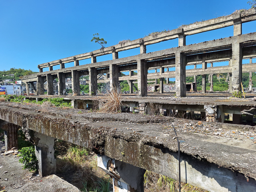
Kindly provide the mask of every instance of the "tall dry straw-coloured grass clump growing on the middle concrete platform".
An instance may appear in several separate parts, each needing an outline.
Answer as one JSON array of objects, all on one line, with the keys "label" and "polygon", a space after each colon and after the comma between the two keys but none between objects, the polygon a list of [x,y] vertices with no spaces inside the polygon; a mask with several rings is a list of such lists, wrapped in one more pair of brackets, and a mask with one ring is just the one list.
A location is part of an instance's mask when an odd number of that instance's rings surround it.
[{"label": "tall dry straw-coloured grass clump growing on the middle concrete platform", "polygon": [[99,112],[103,113],[117,113],[121,112],[122,99],[121,93],[118,88],[113,87],[106,96],[100,98],[102,100],[102,107]]}]

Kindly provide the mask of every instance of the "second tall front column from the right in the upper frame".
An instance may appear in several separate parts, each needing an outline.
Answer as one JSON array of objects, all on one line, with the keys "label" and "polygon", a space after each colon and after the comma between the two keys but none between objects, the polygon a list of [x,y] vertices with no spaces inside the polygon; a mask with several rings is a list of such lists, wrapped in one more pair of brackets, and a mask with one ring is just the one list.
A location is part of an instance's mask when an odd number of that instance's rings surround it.
[{"label": "second tall front column from the right in the upper frame", "polygon": [[176,96],[186,97],[186,56],[181,52],[175,55]]}]

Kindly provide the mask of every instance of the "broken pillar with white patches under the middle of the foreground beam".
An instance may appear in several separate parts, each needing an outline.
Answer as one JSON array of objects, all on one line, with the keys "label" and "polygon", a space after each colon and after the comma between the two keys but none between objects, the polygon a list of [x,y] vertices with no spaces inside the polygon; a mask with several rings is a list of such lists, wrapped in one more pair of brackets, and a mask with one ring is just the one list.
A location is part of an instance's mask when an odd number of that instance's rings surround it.
[{"label": "broken pillar with white patches under the middle of the foreground beam", "polygon": [[145,169],[98,155],[98,166],[113,179],[113,192],[144,192]]}]

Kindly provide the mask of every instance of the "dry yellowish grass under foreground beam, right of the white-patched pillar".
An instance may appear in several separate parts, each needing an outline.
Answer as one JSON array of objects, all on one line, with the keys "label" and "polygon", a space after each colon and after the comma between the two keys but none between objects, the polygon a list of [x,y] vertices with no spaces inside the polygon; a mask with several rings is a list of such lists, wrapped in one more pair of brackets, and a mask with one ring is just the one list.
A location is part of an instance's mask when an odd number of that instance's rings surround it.
[{"label": "dry yellowish grass under foreground beam, right of the white-patched pillar", "polygon": [[[146,171],[144,174],[144,191],[145,192],[178,192],[179,182],[170,177],[160,175],[154,172]],[[208,192],[199,187],[181,182],[182,192]]]}]

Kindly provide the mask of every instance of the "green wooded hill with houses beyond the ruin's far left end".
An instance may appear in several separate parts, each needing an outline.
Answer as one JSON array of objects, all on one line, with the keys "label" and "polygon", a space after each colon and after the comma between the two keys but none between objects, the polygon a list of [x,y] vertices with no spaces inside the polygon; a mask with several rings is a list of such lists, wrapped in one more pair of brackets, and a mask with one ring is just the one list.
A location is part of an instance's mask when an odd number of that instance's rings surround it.
[{"label": "green wooded hill with houses beyond the ruin's far left end", "polygon": [[[37,72],[33,72],[32,70],[11,68],[8,71],[6,71],[6,70],[0,71],[0,81],[3,81],[5,79],[14,79],[15,81],[17,81],[17,80],[19,80],[20,76],[31,75],[33,73],[37,73]],[[9,76],[11,74],[14,74],[14,77]]]}]

